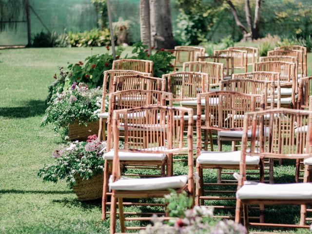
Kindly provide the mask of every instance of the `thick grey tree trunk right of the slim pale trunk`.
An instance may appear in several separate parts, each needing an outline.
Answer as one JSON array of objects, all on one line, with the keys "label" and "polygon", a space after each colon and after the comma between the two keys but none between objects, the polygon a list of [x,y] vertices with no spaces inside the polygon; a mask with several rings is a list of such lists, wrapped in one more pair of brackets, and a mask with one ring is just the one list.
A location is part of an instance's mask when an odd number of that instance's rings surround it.
[{"label": "thick grey tree trunk right of the slim pale trunk", "polygon": [[172,49],[175,40],[172,34],[170,1],[150,0],[152,45],[156,48]]}]

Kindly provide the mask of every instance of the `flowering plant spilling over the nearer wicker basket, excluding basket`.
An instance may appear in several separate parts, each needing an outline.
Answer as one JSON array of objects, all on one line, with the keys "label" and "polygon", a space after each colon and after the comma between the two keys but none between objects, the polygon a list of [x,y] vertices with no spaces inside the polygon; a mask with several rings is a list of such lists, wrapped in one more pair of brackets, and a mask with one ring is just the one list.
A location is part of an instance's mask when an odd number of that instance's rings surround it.
[{"label": "flowering plant spilling over the nearer wicker basket, excluding basket", "polygon": [[58,182],[66,180],[72,187],[76,183],[75,176],[90,179],[103,171],[104,160],[100,151],[106,147],[106,142],[98,141],[97,136],[88,137],[87,141],[68,143],[64,148],[57,149],[52,156],[55,163],[44,165],[38,172],[43,181]]}]

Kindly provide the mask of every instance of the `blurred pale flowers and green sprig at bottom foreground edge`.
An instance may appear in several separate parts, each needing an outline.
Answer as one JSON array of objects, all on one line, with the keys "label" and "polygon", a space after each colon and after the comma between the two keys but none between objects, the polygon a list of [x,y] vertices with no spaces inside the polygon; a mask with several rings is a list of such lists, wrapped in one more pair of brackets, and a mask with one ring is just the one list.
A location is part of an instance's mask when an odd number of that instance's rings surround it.
[{"label": "blurred pale flowers and green sprig at bottom foreground edge", "polygon": [[169,215],[178,218],[164,222],[161,217],[155,216],[153,225],[147,225],[146,230],[139,234],[247,234],[244,226],[233,220],[218,221],[213,218],[213,207],[195,206],[187,210],[192,200],[185,192],[177,195],[173,191],[165,199]]}]

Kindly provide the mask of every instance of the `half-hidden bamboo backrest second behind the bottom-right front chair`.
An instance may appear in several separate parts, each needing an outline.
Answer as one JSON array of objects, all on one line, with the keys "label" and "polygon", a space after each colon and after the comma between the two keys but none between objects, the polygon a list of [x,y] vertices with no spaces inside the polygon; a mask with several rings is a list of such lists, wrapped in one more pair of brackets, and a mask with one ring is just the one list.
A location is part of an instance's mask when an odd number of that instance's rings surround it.
[{"label": "half-hidden bamboo backrest second behind the bottom-right front chair", "polygon": [[[226,91],[235,91],[243,94],[263,94],[264,103],[268,103],[270,98],[270,105],[267,108],[274,108],[274,80],[255,80],[246,78],[229,79],[220,82],[220,87],[224,87]],[[278,98],[277,98],[278,99]],[[269,103],[268,103],[269,104]],[[256,103],[258,109],[260,109],[260,102]],[[278,107],[280,105],[277,104]]]}]

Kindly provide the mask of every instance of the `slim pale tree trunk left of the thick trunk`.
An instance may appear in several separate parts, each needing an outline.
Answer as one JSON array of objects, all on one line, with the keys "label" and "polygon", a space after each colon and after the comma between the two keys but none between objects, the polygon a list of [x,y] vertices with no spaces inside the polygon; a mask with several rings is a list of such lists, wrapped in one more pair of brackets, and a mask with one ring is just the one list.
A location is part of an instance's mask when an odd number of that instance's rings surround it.
[{"label": "slim pale tree trunk left of the thick trunk", "polygon": [[140,0],[140,32],[141,41],[148,46],[148,53],[151,54],[151,22],[150,22],[150,2]]}]

